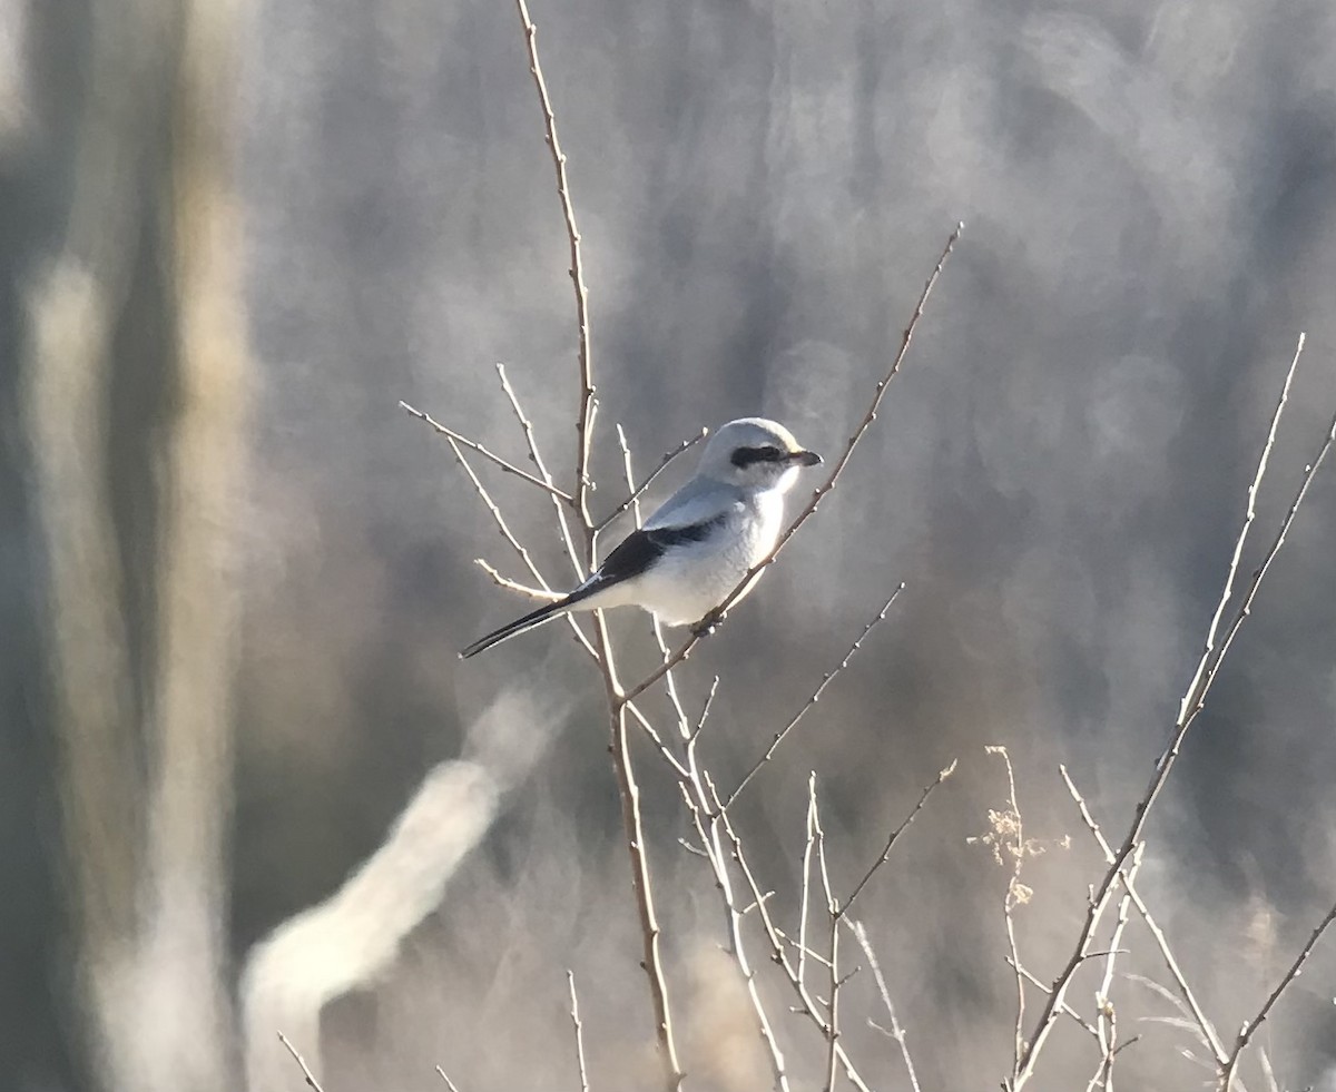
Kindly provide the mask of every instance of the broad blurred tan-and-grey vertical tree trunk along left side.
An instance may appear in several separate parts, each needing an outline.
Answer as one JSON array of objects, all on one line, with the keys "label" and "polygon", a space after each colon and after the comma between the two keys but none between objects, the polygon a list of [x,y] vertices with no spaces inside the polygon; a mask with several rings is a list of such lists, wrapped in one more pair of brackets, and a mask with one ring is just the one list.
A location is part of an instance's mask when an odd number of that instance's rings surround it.
[{"label": "broad blurred tan-and-grey vertical tree trunk along left side", "polygon": [[[5,262],[77,1087],[234,1087],[238,0],[37,0]],[[55,924],[52,925],[55,928]],[[55,973],[48,972],[48,973]]]}]

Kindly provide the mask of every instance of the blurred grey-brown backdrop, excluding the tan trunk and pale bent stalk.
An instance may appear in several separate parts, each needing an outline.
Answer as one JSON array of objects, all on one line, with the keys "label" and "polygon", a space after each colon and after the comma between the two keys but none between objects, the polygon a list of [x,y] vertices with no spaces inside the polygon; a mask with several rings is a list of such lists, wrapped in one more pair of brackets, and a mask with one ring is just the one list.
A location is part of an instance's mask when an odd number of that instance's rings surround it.
[{"label": "blurred grey-brown backdrop, excluding the tan trunk and pale bent stalk", "polygon": [[[81,16],[5,9],[15,101],[40,120],[81,85]],[[596,510],[620,497],[613,422],[643,469],[752,413],[838,451],[967,224],[840,487],[684,685],[696,704],[724,677],[709,761],[729,782],[907,582],[741,822],[791,912],[808,770],[852,878],[961,760],[863,913],[925,1087],[997,1087],[1014,1023],[1006,881],[965,841],[1005,801],[983,746],[1010,749],[1026,833],[1073,836],[1026,866],[1035,897],[1018,912],[1022,953],[1051,979],[1102,872],[1057,765],[1121,834],[1196,666],[1300,330],[1242,577],[1336,406],[1336,8],[572,0],[533,17],[591,286]],[[326,1013],[326,1073],[334,1088],[426,1088],[441,1063],[464,1088],[550,1088],[552,1069],[570,1087],[553,1063],[569,1052],[565,967],[595,1072],[619,1072],[645,1049],[649,1009],[597,677],[558,627],[457,662],[521,609],[472,558],[520,571],[440,438],[395,407],[521,459],[492,371],[505,362],[570,481],[566,240],[518,19],[505,4],[270,0],[236,33],[253,366],[227,530],[242,603],[228,950],[239,963],[329,894],[498,693],[540,693],[542,761],[394,972]],[[24,56],[51,63],[24,79]],[[31,147],[7,160],[24,214],[11,238],[60,219],[32,196],[51,190]],[[19,495],[23,445],[4,458]],[[542,498],[505,479],[496,495],[565,579]],[[1336,896],[1333,521],[1327,474],[1149,830],[1142,886],[1226,1036]],[[7,626],[23,634],[43,610],[27,598],[41,549],[17,522],[7,538],[23,606]],[[640,619],[615,625],[644,641]],[[49,752],[23,688],[7,693],[5,869],[29,894],[7,937],[25,952],[13,981],[47,1000],[8,987],[0,1023],[31,1023],[12,1043],[19,1087],[86,1087],[57,872],[24,833],[52,821]],[[675,845],[671,784],[648,757],[644,770],[689,997],[721,920]],[[1268,1031],[1281,1087],[1333,1087],[1332,968],[1320,953]],[[1162,977],[1149,956],[1140,969]],[[1172,1009],[1120,988],[1128,1033],[1144,1035],[1124,1060],[1138,1087],[1205,1076],[1178,1056],[1188,1032],[1134,1023]],[[856,1035],[878,1087],[902,1087],[888,1044]],[[1082,1049],[1058,1051],[1037,1087],[1085,1080]],[[799,1073],[822,1060],[796,1055]]]}]

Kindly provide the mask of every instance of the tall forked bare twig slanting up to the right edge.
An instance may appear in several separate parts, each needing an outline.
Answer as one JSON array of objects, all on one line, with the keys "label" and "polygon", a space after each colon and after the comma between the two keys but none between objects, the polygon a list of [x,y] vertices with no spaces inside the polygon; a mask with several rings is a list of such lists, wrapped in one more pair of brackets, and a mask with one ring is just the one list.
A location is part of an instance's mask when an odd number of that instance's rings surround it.
[{"label": "tall forked bare twig slanting up to the right edge", "polygon": [[[1281,411],[1284,410],[1285,399],[1288,396],[1289,376],[1293,374],[1295,366],[1299,359],[1299,352],[1303,350],[1303,344],[1304,339],[1303,336],[1300,336],[1299,350],[1296,350],[1295,352],[1295,360],[1289,366],[1289,371],[1287,372],[1285,376],[1285,383],[1281,388],[1280,400],[1276,406],[1275,414],[1272,415],[1272,427],[1271,431],[1268,433],[1267,443],[1263,446],[1261,458],[1259,459],[1257,465],[1257,473],[1253,478],[1252,486],[1248,490],[1249,498],[1255,497],[1257,490],[1261,487],[1261,481],[1267,470],[1267,459],[1271,454],[1272,437],[1275,435],[1280,425],[1280,415]],[[1054,981],[1053,993],[1049,996],[1049,1000],[1045,1004],[1043,1011],[1041,1012],[1038,1023],[1035,1025],[1035,1031],[1030,1041],[1030,1052],[1029,1056],[1026,1057],[1026,1064],[1017,1075],[1011,1087],[1011,1092],[1019,1092],[1019,1089],[1025,1085],[1025,1083],[1034,1075],[1034,1067],[1038,1060],[1039,1051],[1043,1047],[1043,1043],[1046,1041],[1049,1032],[1053,1028],[1054,1020],[1057,1019],[1058,1003],[1062,1000],[1067,987],[1071,983],[1071,977],[1075,975],[1077,968],[1081,965],[1081,963],[1086,957],[1086,953],[1089,952],[1090,941],[1094,936],[1096,926],[1100,922],[1100,917],[1104,914],[1104,910],[1108,906],[1109,900],[1113,897],[1113,892],[1120,882],[1120,877],[1124,866],[1128,862],[1128,858],[1132,856],[1137,844],[1141,841],[1141,834],[1145,830],[1146,821],[1150,816],[1150,809],[1154,806],[1154,802],[1158,798],[1161,789],[1164,789],[1165,781],[1169,778],[1169,773],[1173,769],[1174,762],[1178,757],[1178,752],[1182,746],[1182,740],[1188,734],[1188,729],[1196,721],[1197,714],[1205,708],[1206,696],[1209,694],[1210,688],[1216,681],[1220,667],[1224,663],[1225,655],[1232,647],[1234,637],[1237,637],[1240,629],[1242,627],[1244,621],[1248,618],[1252,610],[1253,599],[1257,595],[1257,590],[1261,587],[1263,579],[1265,578],[1272,563],[1279,555],[1280,549],[1285,542],[1285,535],[1288,534],[1289,527],[1295,521],[1295,515],[1299,513],[1299,507],[1303,505],[1304,497],[1308,494],[1308,487],[1313,481],[1313,475],[1316,475],[1319,467],[1323,465],[1323,461],[1327,458],[1327,453],[1331,450],[1333,442],[1336,442],[1336,418],[1332,419],[1331,430],[1328,431],[1325,441],[1319,449],[1316,458],[1304,470],[1303,482],[1299,487],[1299,491],[1295,495],[1293,502],[1289,506],[1289,511],[1281,521],[1280,530],[1276,534],[1276,538],[1272,542],[1271,549],[1267,551],[1267,557],[1263,559],[1263,563],[1253,573],[1252,581],[1248,586],[1248,591],[1245,593],[1242,602],[1240,602],[1238,609],[1234,613],[1233,621],[1230,622],[1229,630],[1226,631],[1225,639],[1221,643],[1218,653],[1216,654],[1214,659],[1210,661],[1209,667],[1202,669],[1201,666],[1198,666],[1197,671],[1192,678],[1192,682],[1188,685],[1188,689],[1184,693],[1184,698],[1180,705],[1178,720],[1174,725],[1173,740],[1169,744],[1169,749],[1161,757],[1161,761],[1156,765],[1156,772],[1152,776],[1150,785],[1146,789],[1145,796],[1141,798],[1141,802],[1137,805],[1136,817],[1132,821],[1132,826],[1128,830],[1128,834],[1124,838],[1122,845],[1120,846],[1117,853],[1114,853],[1114,860],[1109,865],[1109,870],[1105,873],[1104,880],[1101,881],[1098,889],[1092,893],[1090,906],[1086,912],[1086,921],[1085,925],[1082,926],[1081,936],[1077,940],[1077,946],[1073,950],[1071,957],[1067,960],[1066,967],[1062,969],[1062,972]],[[1238,535],[1240,542],[1236,542],[1234,545],[1234,558],[1237,558],[1238,553],[1242,549],[1241,539],[1246,535],[1250,522],[1252,522],[1252,501],[1249,499],[1248,514],[1245,515],[1244,526]],[[1228,601],[1228,598],[1232,594],[1233,574],[1236,567],[1237,567],[1237,561],[1232,562],[1229,574],[1226,575],[1225,593],[1222,595],[1222,601]],[[1212,643],[1213,638],[1210,635],[1214,633],[1214,630],[1216,630],[1216,622],[1213,619],[1212,626],[1208,630],[1208,643]]]}]

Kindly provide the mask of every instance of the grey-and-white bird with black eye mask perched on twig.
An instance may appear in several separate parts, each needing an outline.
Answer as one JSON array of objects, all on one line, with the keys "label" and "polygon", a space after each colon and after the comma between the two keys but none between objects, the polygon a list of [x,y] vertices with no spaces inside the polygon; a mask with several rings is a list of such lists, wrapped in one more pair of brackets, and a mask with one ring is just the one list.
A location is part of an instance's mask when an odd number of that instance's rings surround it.
[{"label": "grey-and-white bird with black eye mask perched on twig", "polygon": [[[778,422],[762,417],[729,421],[705,443],[696,474],[627,535],[593,575],[562,598],[478,638],[460,658],[573,610],[639,606],[665,625],[703,623],[775,549],[784,523],[784,494],[803,467],[820,461]],[[741,594],[752,586],[755,581]]]}]

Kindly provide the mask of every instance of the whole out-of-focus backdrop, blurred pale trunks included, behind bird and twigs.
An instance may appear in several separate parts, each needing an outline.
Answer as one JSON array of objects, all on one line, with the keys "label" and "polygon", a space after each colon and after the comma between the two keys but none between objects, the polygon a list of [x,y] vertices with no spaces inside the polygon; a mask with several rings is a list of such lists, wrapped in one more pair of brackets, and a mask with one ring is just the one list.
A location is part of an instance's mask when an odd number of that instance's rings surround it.
[{"label": "whole out-of-focus backdrop, blurred pale trunks included, behind bird and twigs", "polygon": [[[533,19],[591,288],[596,514],[624,493],[615,422],[641,471],[754,413],[836,453],[967,223],[840,487],[680,685],[699,709],[723,677],[701,746],[731,785],[907,582],[737,822],[792,921],[808,772],[848,889],[959,760],[859,912],[923,1087],[997,1088],[985,746],[1046,848],[1017,925],[1050,981],[1102,876],[1057,766],[1121,838],[1301,330],[1244,578],[1336,408],[1336,8]],[[560,626],[457,661],[524,609],[473,558],[524,571],[397,408],[522,462],[504,362],[572,482],[568,244],[516,11],[0,0],[0,1084],[297,1088],[282,1029],[331,1091],[441,1087],[437,1064],[466,1092],[578,1087],[572,968],[595,1087],[652,1087],[601,685]],[[546,499],[478,473],[568,582]],[[1148,829],[1142,892],[1226,1040],[1336,897],[1333,523],[1327,473]],[[644,618],[613,626],[648,665]],[[708,870],[640,752],[692,1085],[766,1087]],[[1166,981],[1134,925],[1125,946]],[[1259,1035],[1279,1088],[1336,1088],[1332,948]],[[850,1051],[906,1088],[866,979]],[[816,1080],[824,1048],[767,989]],[[1142,1036],[1125,1080],[1210,1080],[1169,1001],[1120,979],[1116,1004]],[[1082,1087],[1092,1040],[1049,1049],[1031,1087]]]}]

